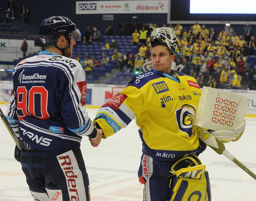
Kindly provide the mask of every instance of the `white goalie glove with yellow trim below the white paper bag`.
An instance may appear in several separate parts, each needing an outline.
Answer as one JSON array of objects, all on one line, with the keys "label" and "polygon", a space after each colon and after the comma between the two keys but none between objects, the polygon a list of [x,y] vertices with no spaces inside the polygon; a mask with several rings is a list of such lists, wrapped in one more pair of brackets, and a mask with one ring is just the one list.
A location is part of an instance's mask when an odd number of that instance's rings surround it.
[{"label": "white goalie glove with yellow trim below the white paper bag", "polygon": [[235,129],[220,129],[220,130],[208,130],[210,134],[214,135],[222,143],[236,142],[241,138],[244,133],[246,121],[241,126]]}]

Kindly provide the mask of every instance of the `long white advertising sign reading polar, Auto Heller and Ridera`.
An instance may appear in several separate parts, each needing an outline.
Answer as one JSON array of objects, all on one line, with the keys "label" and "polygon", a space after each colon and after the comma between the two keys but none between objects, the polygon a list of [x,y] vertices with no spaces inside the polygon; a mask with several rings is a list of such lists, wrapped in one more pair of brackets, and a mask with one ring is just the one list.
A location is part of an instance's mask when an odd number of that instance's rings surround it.
[{"label": "long white advertising sign reading polar, Auto Heller and Ridera", "polygon": [[168,0],[77,1],[76,14],[167,13]]}]

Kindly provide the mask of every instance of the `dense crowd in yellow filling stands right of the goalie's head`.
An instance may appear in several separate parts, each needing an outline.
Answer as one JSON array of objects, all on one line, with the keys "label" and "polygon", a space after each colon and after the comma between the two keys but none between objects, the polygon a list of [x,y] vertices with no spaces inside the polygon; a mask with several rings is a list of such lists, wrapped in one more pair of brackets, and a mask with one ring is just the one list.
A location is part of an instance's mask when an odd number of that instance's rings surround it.
[{"label": "dense crowd in yellow filling stands right of the goalie's head", "polygon": [[201,87],[241,89],[242,85],[244,89],[256,89],[256,66],[246,66],[245,58],[256,50],[249,23],[244,35],[239,36],[231,25],[218,34],[197,22],[189,31],[183,31],[177,23],[174,32],[182,50],[176,57],[177,65],[181,64],[178,70],[195,77]]}]

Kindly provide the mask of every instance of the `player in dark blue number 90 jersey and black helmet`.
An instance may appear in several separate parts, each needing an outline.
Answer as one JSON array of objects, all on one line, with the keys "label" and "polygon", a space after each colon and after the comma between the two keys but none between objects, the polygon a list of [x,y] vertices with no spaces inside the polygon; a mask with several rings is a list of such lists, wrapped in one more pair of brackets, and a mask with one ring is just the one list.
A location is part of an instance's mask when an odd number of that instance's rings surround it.
[{"label": "player in dark blue number 90 jersey and black helmet", "polygon": [[40,25],[39,38],[46,50],[14,69],[6,118],[19,138],[20,162],[33,199],[89,201],[80,143],[87,135],[97,146],[102,131],[85,108],[84,70],[71,59],[81,35],[70,19],[49,17]]}]

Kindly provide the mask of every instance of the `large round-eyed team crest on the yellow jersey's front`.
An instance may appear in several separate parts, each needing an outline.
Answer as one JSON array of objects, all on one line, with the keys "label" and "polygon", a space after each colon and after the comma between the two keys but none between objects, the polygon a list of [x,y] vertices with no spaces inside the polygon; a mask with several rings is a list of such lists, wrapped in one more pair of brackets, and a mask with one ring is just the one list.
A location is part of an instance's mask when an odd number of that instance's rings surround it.
[{"label": "large round-eyed team crest on the yellow jersey's front", "polygon": [[196,108],[189,104],[184,104],[175,110],[175,120],[180,132],[186,133],[189,137],[195,135],[193,131]]}]

